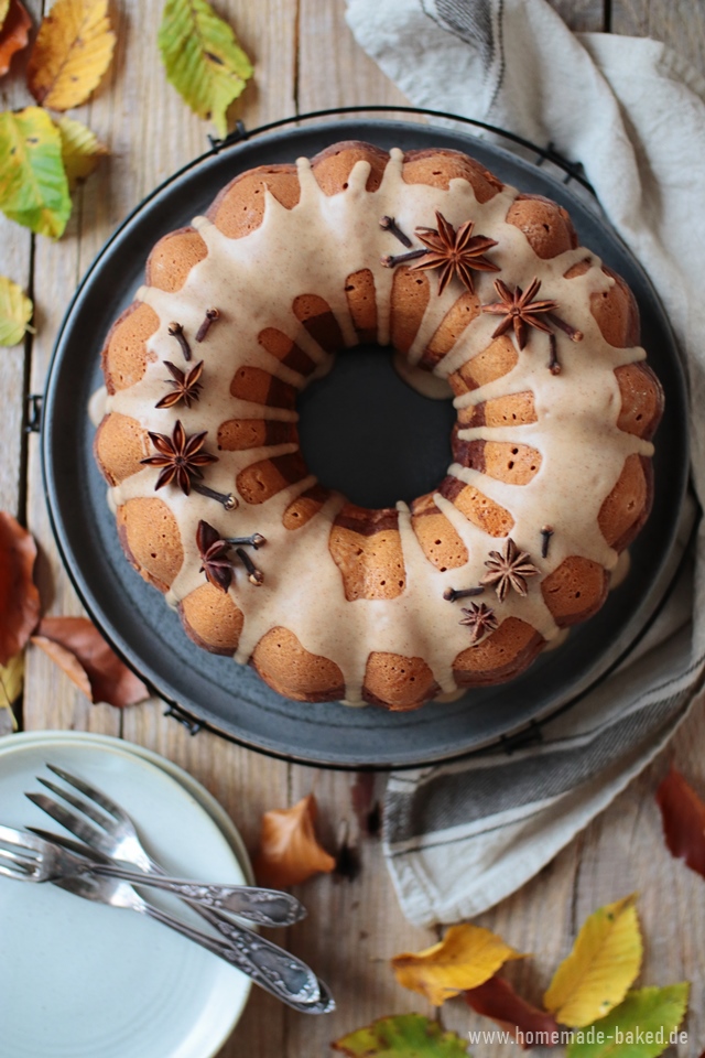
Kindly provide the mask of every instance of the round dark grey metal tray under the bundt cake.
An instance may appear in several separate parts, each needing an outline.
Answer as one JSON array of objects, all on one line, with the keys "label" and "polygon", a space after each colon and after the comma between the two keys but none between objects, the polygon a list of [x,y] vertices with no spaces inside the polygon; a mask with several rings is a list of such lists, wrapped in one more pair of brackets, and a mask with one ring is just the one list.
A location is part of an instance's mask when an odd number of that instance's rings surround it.
[{"label": "round dark grey metal tray under the bundt cake", "polygon": [[[341,139],[386,149],[455,148],[507,183],[565,205],[581,241],[634,291],[642,341],[666,393],[657,435],[653,512],[631,548],[629,576],[599,615],[573,629],[561,647],[542,655],[512,682],[471,690],[451,704],[431,703],[411,713],[292,702],[265,687],[250,668],[194,646],[176,614],[126,561],[91,455],[94,428],[87,406],[102,381],[102,342],[142,282],[154,242],[205,212],[239,172],[312,156]],[[359,373],[349,374],[346,389],[351,400],[369,392],[364,364]],[[403,417],[405,407],[401,401],[397,409],[390,401],[390,414]],[[317,427],[315,414],[310,418],[306,446],[313,451]],[[663,309],[640,267],[595,208],[543,168],[467,131],[364,118],[289,128],[226,147],[187,166],[142,203],[98,255],[66,314],[46,385],[42,453],[54,531],[78,594],[116,649],[178,717],[193,722],[194,728],[208,726],[247,746],[305,763],[411,767],[462,756],[532,725],[535,730],[538,721],[575,702],[603,679],[639,637],[662,602],[683,550],[676,536],[687,487],[686,423],[684,374]],[[403,425],[395,421],[393,429]],[[595,444],[599,441],[596,436]],[[416,483],[412,467],[408,487],[417,484],[416,494],[432,487],[427,471],[420,466]],[[340,472],[344,476],[344,466]]]}]

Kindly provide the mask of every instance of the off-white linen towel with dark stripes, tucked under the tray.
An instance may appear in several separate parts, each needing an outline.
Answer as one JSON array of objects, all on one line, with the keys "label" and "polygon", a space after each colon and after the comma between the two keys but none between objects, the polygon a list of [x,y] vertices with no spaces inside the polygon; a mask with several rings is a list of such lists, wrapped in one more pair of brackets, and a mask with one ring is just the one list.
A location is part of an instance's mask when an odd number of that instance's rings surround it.
[{"label": "off-white linen towel with dark stripes, tucked under the tray", "polygon": [[[583,165],[687,360],[702,505],[705,82],[655,41],[571,33],[545,0],[347,0],[347,18],[415,106],[487,121]],[[663,747],[701,683],[704,573],[701,526],[646,637],[543,725],[540,743],[390,776],[384,853],[411,921],[468,918],[514,892]]]}]

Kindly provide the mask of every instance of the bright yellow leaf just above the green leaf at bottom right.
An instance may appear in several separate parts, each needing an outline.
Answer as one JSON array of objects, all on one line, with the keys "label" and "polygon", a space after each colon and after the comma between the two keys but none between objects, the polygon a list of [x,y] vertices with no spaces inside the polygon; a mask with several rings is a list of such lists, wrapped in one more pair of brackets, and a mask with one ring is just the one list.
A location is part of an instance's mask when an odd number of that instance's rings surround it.
[{"label": "bright yellow leaf just above the green leaf at bottom right", "polygon": [[557,1022],[583,1028],[621,1003],[641,967],[634,895],[598,908],[556,970],[544,1006]]}]

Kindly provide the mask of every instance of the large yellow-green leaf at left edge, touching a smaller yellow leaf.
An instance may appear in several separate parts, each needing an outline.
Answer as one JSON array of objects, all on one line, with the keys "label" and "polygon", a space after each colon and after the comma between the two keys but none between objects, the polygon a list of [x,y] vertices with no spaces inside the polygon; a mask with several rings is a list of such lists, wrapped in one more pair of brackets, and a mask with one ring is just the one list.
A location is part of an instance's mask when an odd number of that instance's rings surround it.
[{"label": "large yellow-green leaf at left edge, touching a smaller yellow leaf", "polygon": [[61,136],[41,107],[0,114],[0,209],[54,239],[70,216]]}]

